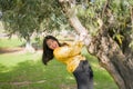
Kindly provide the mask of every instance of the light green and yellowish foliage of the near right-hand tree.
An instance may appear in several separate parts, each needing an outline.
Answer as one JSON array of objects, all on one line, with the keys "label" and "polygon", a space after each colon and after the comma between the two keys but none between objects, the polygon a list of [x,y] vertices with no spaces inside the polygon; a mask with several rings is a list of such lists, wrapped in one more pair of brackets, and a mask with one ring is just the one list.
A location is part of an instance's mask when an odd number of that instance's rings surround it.
[{"label": "light green and yellowish foliage of the near right-hand tree", "polygon": [[94,0],[88,2],[85,8],[84,4],[78,4],[76,10],[91,34],[99,32],[98,20],[101,19],[109,34],[122,46],[127,36],[133,39],[132,8],[132,0]]}]

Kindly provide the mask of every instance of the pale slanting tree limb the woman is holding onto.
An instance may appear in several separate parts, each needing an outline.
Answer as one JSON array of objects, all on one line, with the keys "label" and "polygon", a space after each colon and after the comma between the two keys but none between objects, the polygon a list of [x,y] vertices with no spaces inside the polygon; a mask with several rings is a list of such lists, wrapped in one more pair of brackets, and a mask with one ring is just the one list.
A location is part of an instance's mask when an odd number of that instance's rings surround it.
[{"label": "pale slanting tree limb the woman is holding onto", "polygon": [[62,10],[66,14],[71,26],[80,34],[79,40],[82,40],[88,46],[91,42],[91,36],[88,34],[88,30],[76,17],[75,0],[59,0],[59,2],[61,3],[61,7],[63,8]]}]

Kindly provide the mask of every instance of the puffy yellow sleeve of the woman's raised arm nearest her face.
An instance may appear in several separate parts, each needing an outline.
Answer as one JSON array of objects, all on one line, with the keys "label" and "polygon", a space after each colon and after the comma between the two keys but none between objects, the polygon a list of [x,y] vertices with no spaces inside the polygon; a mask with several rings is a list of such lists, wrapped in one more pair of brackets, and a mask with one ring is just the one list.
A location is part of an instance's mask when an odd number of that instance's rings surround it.
[{"label": "puffy yellow sleeve of the woman's raised arm nearest her face", "polygon": [[64,46],[57,48],[53,53],[57,59],[63,59],[76,56],[81,52],[83,43],[81,41],[76,41],[71,46]]}]

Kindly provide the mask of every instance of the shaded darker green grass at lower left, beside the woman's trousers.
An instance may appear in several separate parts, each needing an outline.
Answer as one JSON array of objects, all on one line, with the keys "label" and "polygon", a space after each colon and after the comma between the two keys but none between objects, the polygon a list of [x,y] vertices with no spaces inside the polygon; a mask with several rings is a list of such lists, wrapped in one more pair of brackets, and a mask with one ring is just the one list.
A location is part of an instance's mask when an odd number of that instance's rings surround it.
[{"label": "shaded darker green grass at lower left, beside the woman's trousers", "polygon": [[47,67],[29,60],[10,68],[0,65],[0,89],[75,89],[75,81],[54,60]]}]

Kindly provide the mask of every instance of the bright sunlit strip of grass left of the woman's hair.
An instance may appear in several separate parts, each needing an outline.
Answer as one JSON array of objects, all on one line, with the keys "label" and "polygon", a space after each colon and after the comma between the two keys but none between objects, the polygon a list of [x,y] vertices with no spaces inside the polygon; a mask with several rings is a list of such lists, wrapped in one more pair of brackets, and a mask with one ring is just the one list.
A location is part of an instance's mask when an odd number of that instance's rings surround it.
[{"label": "bright sunlit strip of grass left of the woman's hair", "polygon": [[38,56],[38,53],[2,53],[0,55],[0,63],[6,67],[17,66],[19,62],[24,62],[27,60],[35,61]]}]

